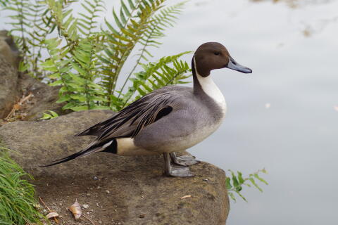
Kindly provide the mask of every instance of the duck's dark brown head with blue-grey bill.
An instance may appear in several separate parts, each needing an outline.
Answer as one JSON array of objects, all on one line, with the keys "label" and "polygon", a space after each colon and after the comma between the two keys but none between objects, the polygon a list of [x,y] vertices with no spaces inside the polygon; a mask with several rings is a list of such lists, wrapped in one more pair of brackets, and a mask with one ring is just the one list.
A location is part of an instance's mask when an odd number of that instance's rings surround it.
[{"label": "duck's dark brown head with blue-grey bill", "polygon": [[202,77],[208,77],[211,70],[229,68],[239,72],[251,73],[252,70],[237,63],[225,46],[218,42],[207,42],[199,46],[194,53],[193,62]]}]

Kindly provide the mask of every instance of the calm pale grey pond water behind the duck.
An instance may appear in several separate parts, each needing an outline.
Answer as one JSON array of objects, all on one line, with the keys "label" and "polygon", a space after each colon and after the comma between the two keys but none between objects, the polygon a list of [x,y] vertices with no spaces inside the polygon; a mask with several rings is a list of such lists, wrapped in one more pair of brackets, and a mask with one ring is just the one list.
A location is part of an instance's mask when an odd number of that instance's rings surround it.
[{"label": "calm pale grey pond water behind the duck", "polygon": [[227,118],[189,150],[224,170],[268,170],[269,186],[245,188],[249,203],[232,203],[227,224],[337,224],[337,8],[328,0],[194,0],[154,52],[219,41],[253,70],[213,72]]}]

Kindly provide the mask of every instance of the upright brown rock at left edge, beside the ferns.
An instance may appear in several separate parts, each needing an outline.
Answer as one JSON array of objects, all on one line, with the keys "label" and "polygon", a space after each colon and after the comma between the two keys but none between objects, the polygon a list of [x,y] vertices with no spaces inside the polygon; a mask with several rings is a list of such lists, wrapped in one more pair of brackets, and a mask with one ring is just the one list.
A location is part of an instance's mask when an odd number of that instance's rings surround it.
[{"label": "upright brown rock at left edge, beside the ferns", "polygon": [[[10,45],[11,44],[11,45]],[[0,31],[0,119],[11,112],[18,96],[18,49],[13,39]]]}]

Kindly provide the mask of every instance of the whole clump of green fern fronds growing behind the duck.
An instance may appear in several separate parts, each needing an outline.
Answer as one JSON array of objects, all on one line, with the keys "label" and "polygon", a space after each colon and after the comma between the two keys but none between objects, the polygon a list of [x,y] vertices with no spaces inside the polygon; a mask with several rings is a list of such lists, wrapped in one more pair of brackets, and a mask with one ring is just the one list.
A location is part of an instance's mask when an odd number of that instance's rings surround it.
[{"label": "whole clump of green fern fronds growing behind the duck", "polygon": [[[155,73],[142,77],[142,71],[134,73],[142,65],[142,60],[148,61],[151,56],[149,49],[160,46],[157,39],[173,25],[183,3],[164,7],[165,0],[121,0],[119,10],[113,8],[113,23],[105,20],[106,28],[100,30],[97,18],[105,10],[104,1],[80,2],[84,11],[78,15],[70,8],[74,2],[13,0],[7,6],[16,13],[12,17],[11,32],[17,34],[15,40],[24,57],[20,71],[27,71],[52,86],[60,85],[58,102],[66,102],[64,109],[118,110],[130,103],[132,97],[139,98],[151,89],[176,84],[186,78],[184,72],[189,67],[178,60],[180,56],[175,60],[166,58],[166,63],[164,59],[158,61],[165,63],[158,67],[158,71],[161,68],[161,74],[169,78],[158,77]],[[137,53],[139,59],[123,77],[123,88],[117,91],[120,71],[137,44],[141,46]],[[44,50],[50,57],[42,60]],[[149,68],[158,66],[158,63],[142,65],[143,72],[149,72]],[[128,80],[138,88],[133,90],[130,87],[124,93]]]}]

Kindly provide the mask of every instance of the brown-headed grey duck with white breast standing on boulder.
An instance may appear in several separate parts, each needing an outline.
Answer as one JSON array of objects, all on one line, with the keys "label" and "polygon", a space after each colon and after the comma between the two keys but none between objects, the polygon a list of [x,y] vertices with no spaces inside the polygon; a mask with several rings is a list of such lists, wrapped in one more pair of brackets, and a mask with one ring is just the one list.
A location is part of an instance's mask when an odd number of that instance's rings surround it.
[{"label": "brown-headed grey duck with white breast standing on boulder", "polygon": [[177,156],[204,141],[222,124],[227,104],[211,79],[211,70],[252,70],[237,63],[218,42],[207,42],[192,57],[193,86],[164,86],[134,101],[107,120],[75,136],[96,136],[89,145],[52,164],[106,152],[116,155],[163,155],[164,174],[194,176],[189,166],[199,163],[192,155]]}]

